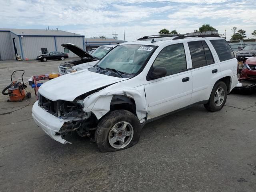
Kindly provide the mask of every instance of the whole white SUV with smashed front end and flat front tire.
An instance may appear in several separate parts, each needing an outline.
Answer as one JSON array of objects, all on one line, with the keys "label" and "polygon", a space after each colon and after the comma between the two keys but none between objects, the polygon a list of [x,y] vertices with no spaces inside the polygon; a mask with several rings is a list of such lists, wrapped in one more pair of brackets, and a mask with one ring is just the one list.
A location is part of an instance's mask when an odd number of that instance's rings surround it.
[{"label": "whole white SUV with smashed front end and flat front tire", "polygon": [[100,151],[136,144],[146,122],[192,104],[222,109],[238,82],[237,60],[216,35],[145,36],[118,45],[97,65],[44,83],[32,116],[63,144],[92,136]]}]

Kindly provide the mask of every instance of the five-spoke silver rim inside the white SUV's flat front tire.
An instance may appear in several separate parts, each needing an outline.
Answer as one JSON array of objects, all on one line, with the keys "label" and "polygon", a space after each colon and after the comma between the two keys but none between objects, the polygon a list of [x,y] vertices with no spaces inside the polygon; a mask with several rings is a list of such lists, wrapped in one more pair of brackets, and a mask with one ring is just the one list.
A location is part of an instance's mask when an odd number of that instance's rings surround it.
[{"label": "five-spoke silver rim inside the white SUV's flat front tire", "polygon": [[110,129],[108,142],[113,148],[121,149],[131,142],[133,134],[133,127],[130,123],[118,122]]}]

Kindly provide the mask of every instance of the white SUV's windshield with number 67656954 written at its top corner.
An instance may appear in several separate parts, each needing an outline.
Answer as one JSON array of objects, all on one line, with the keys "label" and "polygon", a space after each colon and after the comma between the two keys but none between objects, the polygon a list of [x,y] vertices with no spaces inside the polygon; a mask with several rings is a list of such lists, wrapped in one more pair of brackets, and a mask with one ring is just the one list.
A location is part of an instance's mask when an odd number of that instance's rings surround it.
[{"label": "white SUV's windshield with number 67656954 written at its top corner", "polygon": [[152,54],[156,46],[120,45],[114,48],[98,66],[103,69],[114,69],[125,74],[136,74]]}]

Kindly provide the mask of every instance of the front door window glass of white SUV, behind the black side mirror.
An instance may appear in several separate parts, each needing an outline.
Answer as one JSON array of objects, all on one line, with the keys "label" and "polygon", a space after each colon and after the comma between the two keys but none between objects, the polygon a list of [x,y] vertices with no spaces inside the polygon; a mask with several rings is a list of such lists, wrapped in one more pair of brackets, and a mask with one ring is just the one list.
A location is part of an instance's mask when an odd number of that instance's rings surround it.
[{"label": "front door window glass of white SUV, behind the black side mirror", "polygon": [[187,69],[183,44],[174,44],[163,48],[156,57],[153,67],[165,67],[167,70],[166,76]]}]

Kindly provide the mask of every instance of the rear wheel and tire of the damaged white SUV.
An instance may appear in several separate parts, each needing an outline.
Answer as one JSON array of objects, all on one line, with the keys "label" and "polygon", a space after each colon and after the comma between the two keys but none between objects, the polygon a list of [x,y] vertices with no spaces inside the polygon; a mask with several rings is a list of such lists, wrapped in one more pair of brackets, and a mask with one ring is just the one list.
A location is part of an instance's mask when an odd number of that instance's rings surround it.
[{"label": "rear wheel and tire of the damaged white SUV", "polygon": [[226,103],[227,93],[226,84],[223,81],[218,81],[214,85],[208,103],[204,104],[204,107],[212,112],[221,110]]}]

